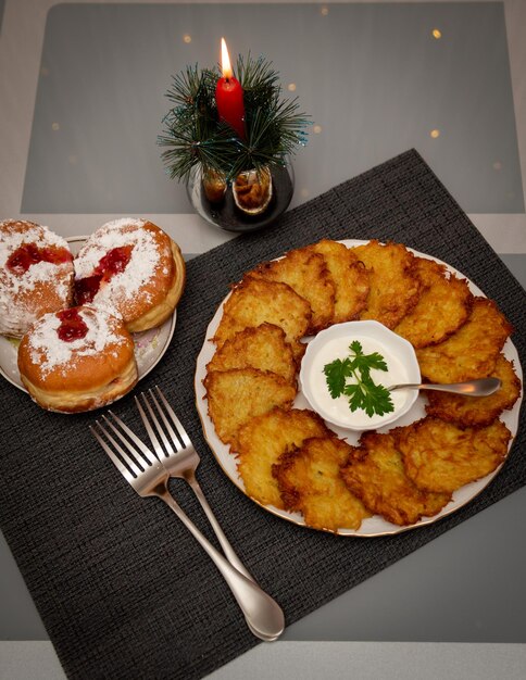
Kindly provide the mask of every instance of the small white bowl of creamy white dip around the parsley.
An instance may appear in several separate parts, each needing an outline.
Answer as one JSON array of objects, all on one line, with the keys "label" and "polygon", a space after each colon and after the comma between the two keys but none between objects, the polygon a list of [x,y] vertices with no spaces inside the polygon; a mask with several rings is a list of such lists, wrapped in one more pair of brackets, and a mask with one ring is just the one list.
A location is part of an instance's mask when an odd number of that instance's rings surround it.
[{"label": "small white bowl of creamy white dip around the parsley", "polygon": [[401,382],[421,382],[421,372],[413,345],[378,322],[347,322],[322,330],[310,342],[301,362],[300,383],[311,407],[324,420],[349,430],[372,430],[402,417],[413,406],[418,390],[391,392],[394,411],[370,417],[359,408],[352,412],[346,395],[333,399],[328,391],[324,366],[336,358],[350,355],[349,345],[358,340],[365,354],[378,352],[385,358],[388,372],[373,369],[376,385],[389,387]]}]

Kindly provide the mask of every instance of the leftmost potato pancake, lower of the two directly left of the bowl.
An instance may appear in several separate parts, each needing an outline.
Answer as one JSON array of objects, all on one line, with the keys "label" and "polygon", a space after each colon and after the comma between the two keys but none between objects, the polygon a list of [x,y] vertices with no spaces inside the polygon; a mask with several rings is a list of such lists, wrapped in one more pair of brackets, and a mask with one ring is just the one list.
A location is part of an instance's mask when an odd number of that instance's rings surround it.
[{"label": "leftmost potato pancake, lower of the two directly left of the bowl", "polygon": [[256,368],[212,370],[203,385],[215,431],[234,451],[241,425],[274,406],[289,408],[296,396],[296,389],[280,376]]}]

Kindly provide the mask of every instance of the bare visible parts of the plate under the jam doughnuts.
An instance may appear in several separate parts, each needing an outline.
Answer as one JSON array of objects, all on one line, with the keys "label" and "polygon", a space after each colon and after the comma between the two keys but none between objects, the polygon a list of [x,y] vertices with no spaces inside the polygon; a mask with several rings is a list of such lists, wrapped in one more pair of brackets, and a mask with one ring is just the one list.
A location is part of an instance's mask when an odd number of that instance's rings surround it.
[{"label": "bare visible parts of the plate under the jam doughnuts", "polygon": [[[86,236],[75,236],[66,239],[73,255],[77,254],[86,239]],[[174,335],[176,319],[177,310],[159,328],[133,333],[139,380],[150,373],[166,352]],[[27,392],[20,378],[16,364],[18,344],[20,340],[0,336],[0,374],[15,387]]]}]

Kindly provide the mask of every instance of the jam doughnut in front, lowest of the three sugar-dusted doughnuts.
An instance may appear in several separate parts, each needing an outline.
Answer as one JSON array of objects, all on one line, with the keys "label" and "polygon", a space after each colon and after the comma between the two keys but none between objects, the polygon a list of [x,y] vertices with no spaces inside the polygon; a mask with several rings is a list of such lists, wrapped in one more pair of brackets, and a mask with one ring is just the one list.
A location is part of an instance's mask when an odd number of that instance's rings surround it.
[{"label": "jam doughnut in front, lowest of the three sugar-dusted doughnuts", "polygon": [[134,341],[105,310],[71,307],[40,317],[18,348],[21,379],[42,408],[91,411],[137,382]]}]

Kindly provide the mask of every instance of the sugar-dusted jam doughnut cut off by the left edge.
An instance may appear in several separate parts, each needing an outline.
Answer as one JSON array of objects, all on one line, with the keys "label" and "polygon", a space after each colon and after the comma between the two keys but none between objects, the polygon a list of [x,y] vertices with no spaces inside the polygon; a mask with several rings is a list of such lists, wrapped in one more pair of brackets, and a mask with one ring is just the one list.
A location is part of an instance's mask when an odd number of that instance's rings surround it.
[{"label": "sugar-dusted jam doughnut cut off by the left edge", "polygon": [[21,338],[42,314],[73,299],[67,241],[33,222],[0,223],[0,335]]}]

